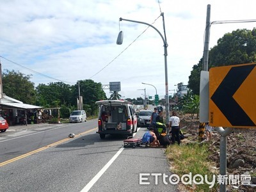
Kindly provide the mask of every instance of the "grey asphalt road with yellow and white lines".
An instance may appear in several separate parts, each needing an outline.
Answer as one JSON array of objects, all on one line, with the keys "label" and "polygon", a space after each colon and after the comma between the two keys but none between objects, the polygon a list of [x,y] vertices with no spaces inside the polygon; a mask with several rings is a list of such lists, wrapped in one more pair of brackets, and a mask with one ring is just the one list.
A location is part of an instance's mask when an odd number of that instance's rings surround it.
[{"label": "grey asphalt road with yellow and white lines", "polygon": [[96,127],[97,120],[10,127],[0,134],[0,191],[177,191],[169,177],[163,183],[163,173],[171,175],[163,148],[123,148],[124,137],[100,140]]}]

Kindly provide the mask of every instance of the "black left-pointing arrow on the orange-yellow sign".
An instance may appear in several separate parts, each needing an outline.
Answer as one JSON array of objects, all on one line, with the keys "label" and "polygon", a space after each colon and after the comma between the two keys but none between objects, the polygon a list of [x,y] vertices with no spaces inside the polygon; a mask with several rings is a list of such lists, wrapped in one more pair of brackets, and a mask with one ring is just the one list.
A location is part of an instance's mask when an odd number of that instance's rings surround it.
[{"label": "black left-pointing arrow on the orange-yellow sign", "polygon": [[251,118],[233,98],[233,95],[255,66],[256,64],[230,68],[227,76],[211,97],[232,126],[255,126]]}]

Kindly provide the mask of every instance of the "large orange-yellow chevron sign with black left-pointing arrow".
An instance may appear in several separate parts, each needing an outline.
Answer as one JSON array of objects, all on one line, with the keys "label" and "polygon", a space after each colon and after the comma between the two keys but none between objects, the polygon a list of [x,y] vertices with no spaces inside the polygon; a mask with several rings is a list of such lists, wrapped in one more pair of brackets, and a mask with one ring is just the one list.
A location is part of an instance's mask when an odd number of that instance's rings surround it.
[{"label": "large orange-yellow chevron sign with black left-pointing arrow", "polygon": [[256,127],[256,63],[209,70],[209,122],[215,127]]}]

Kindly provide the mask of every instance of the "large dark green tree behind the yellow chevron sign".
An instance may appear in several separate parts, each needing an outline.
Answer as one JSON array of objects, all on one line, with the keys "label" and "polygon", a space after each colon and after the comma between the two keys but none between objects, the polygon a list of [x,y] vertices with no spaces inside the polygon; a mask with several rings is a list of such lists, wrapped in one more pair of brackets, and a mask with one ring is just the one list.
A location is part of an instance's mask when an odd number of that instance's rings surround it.
[{"label": "large dark green tree behind the yellow chevron sign", "polygon": [[[237,29],[226,33],[209,51],[209,68],[225,65],[237,65],[256,61],[256,28],[253,30]],[[200,71],[202,59],[193,66],[188,87],[193,94],[199,95]]]}]

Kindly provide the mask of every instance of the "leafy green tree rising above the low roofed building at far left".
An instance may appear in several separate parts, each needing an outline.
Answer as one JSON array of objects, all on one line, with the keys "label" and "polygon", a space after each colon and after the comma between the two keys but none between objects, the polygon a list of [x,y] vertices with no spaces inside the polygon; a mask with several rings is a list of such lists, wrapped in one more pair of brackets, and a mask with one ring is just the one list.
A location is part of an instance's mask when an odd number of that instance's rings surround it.
[{"label": "leafy green tree rising above the low roofed building at far left", "polygon": [[3,72],[3,93],[13,99],[20,100],[27,104],[35,104],[35,84],[29,81],[32,75],[25,75],[14,70]]}]

